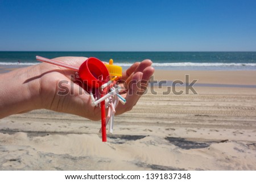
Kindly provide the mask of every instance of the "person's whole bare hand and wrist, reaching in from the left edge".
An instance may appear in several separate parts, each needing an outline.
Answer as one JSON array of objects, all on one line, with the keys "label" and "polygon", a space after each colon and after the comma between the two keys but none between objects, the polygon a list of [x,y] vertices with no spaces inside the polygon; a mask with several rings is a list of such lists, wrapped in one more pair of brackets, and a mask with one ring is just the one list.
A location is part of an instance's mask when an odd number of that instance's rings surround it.
[{"label": "person's whole bare hand and wrist, reaching in from the left edge", "polygon": [[[86,60],[85,57],[58,57],[55,60],[68,62],[74,66],[80,66]],[[125,72],[123,72],[123,81],[149,81],[154,73],[150,60],[135,62]],[[75,71],[41,63],[34,66],[15,69],[8,73],[0,74],[0,118],[24,113],[34,109],[50,109],[52,111],[71,113],[89,118],[90,120],[100,120],[100,107],[93,107],[90,104],[89,94],[79,94],[80,86],[73,84],[73,94],[57,95],[60,81],[68,81],[71,84],[70,75]],[[143,87],[147,83],[143,83]],[[135,84],[127,85],[127,93],[122,96],[126,99],[126,104],[118,104],[116,114],[120,115],[130,111],[137,103],[141,94],[138,91],[144,91]]]}]

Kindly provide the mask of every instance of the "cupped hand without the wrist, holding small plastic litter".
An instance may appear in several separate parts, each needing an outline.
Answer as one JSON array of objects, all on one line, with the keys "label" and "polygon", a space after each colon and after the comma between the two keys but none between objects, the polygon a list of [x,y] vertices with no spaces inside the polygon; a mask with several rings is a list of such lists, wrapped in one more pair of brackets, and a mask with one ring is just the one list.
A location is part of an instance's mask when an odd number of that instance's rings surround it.
[{"label": "cupped hand without the wrist, holding small plastic litter", "polygon": [[[59,57],[55,58],[67,64],[79,67],[86,60],[85,57]],[[127,69],[122,76],[122,80],[128,82],[127,90],[122,96],[126,99],[125,105],[118,104],[117,115],[129,111],[137,103],[141,95],[137,92],[141,90],[136,84],[130,85],[131,80],[138,82],[141,80],[148,81],[154,73],[150,60],[137,62]],[[100,107],[91,105],[90,96],[81,87],[73,83],[75,75],[74,70],[69,70],[56,65],[42,63],[40,64],[40,95],[43,108],[53,111],[72,113],[90,120],[100,120]],[[144,83],[146,86],[147,83]],[[69,88],[69,92],[65,92],[64,88]],[[67,91],[67,90],[66,90]]]}]

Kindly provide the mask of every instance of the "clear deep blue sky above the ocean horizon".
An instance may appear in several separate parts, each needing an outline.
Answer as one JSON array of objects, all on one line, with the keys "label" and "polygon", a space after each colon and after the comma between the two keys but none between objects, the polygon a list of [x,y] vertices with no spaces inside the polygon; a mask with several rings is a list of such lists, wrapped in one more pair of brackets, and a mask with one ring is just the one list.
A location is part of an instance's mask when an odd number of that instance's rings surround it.
[{"label": "clear deep blue sky above the ocean horizon", "polygon": [[0,0],[0,50],[256,51],[255,0]]}]

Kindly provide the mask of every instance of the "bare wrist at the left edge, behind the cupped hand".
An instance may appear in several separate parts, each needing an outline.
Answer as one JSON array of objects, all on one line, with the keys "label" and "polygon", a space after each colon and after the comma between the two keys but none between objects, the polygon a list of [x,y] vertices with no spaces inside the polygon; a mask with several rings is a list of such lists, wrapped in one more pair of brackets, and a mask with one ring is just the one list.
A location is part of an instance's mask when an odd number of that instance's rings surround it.
[{"label": "bare wrist at the left edge, behind the cupped hand", "polygon": [[0,118],[40,108],[38,66],[0,75]]}]

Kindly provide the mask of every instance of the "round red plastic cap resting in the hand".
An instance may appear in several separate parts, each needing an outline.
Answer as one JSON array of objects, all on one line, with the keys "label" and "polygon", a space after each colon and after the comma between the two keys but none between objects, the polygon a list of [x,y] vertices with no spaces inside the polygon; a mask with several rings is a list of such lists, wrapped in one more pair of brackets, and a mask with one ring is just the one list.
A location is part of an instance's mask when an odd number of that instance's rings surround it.
[{"label": "round red plastic cap resting in the hand", "polygon": [[89,57],[79,67],[79,77],[91,88],[98,88],[109,81],[109,71],[103,62]]}]

